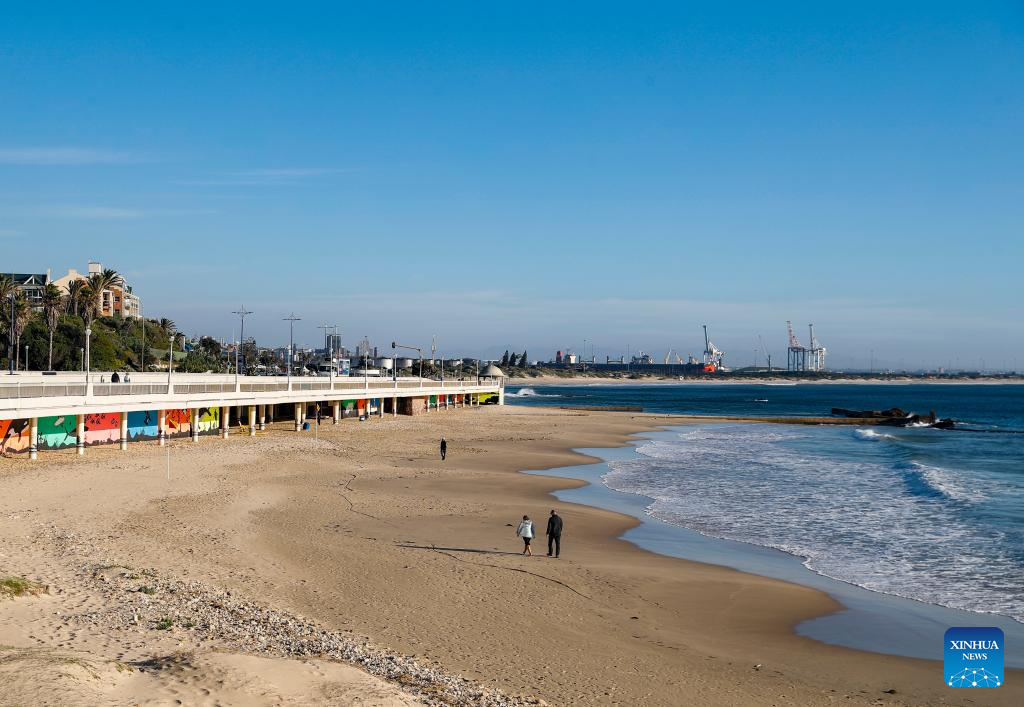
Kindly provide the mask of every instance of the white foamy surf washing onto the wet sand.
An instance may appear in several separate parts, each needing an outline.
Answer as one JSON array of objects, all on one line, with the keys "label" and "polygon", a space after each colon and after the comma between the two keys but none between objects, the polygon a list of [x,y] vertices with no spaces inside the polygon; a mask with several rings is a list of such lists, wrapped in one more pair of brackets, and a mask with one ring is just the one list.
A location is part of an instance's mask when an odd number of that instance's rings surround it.
[{"label": "white foamy surf washing onto the wet sand", "polygon": [[901,445],[858,449],[838,428],[698,427],[609,462],[604,483],[651,498],[656,518],[783,550],[827,577],[1024,621],[1014,540],[971,514],[983,491],[906,460]]}]

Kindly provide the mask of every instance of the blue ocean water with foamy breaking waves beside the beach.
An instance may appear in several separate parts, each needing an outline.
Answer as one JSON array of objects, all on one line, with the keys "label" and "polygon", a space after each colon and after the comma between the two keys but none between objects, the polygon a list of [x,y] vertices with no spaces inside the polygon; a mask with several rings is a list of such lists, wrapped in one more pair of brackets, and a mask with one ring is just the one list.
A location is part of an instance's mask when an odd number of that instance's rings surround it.
[{"label": "blue ocean water with foamy breaking waves beside the beach", "polygon": [[687,425],[608,461],[602,481],[645,497],[652,517],[782,550],[824,577],[1024,622],[1024,386],[683,384],[510,392],[510,404],[525,405],[744,416],[899,406],[961,420],[956,430]]}]

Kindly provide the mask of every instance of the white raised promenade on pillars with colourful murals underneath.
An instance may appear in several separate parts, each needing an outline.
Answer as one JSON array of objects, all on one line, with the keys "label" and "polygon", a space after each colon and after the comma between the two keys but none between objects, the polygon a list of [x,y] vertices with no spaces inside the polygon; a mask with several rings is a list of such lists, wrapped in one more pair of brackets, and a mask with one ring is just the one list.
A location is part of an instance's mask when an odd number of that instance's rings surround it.
[{"label": "white raised promenade on pillars with colourful murals underneath", "polygon": [[501,379],[433,380],[376,377],[263,377],[135,373],[20,373],[0,377],[0,453],[28,454],[96,444],[201,434],[227,436],[243,424],[255,435],[283,419],[302,428],[307,418],[419,415],[432,410],[504,404]]}]

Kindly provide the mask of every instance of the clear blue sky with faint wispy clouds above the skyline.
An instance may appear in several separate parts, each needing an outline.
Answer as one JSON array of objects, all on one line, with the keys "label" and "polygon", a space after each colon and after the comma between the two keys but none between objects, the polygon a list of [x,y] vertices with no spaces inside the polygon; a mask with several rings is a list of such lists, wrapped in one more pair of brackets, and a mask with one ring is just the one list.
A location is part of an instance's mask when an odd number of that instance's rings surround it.
[{"label": "clear blue sky with faint wispy clouds above the skyline", "polygon": [[1024,367],[1020,3],[634,5],[7,8],[0,268],[266,343]]}]

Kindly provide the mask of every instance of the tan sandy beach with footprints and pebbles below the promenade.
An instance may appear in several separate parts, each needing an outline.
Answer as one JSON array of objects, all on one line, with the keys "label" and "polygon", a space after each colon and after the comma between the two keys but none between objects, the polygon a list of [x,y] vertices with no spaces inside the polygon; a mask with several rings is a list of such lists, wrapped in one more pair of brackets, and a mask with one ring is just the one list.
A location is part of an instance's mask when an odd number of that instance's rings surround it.
[{"label": "tan sandy beach with footprints and pebbles below the promenade", "polygon": [[[540,381],[534,381],[540,382]],[[968,704],[939,663],[794,634],[798,585],[656,555],[558,504],[583,463],[682,418],[484,407],[0,459],[0,704]],[[437,441],[449,441],[441,462]],[[543,537],[538,544],[543,543]],[[461,676],[461,678],[459,677]],[[983,693],[1024,702],[1024,672]]]}]

